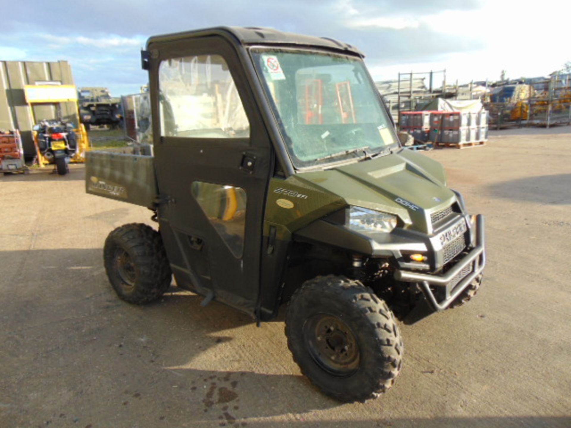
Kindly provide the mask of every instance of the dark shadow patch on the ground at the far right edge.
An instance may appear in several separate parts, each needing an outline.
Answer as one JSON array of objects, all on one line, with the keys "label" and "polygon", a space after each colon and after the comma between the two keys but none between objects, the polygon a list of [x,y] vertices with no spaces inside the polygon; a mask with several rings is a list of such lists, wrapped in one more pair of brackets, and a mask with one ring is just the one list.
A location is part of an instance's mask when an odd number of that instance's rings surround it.
[{"label": "dark shadow patch on the ground at the far right edge", "polygon": [[571,204],[571,174],[542,175],[489,185],[488,192],[502,199],[540,204]]}]

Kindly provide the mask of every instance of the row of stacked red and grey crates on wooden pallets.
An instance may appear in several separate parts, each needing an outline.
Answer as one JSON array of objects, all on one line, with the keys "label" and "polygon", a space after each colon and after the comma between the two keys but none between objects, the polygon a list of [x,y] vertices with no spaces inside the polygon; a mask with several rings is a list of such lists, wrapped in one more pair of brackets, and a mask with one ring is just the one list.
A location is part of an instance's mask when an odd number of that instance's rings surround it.
[{"label": "row of stacked red and grey crates on wooden pallets", "polygon": [[488,140],[488,112],[407,111],[400,128],[418,142],[458,148],[484,146]]}]

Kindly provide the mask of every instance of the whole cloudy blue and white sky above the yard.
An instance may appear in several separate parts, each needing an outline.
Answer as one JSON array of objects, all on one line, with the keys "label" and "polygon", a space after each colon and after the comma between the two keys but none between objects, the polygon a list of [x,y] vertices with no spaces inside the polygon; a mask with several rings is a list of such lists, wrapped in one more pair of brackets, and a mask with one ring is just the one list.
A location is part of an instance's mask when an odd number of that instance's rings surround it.
[{"label": "whole cloudy blue and white sky above the yard", "polygon": [[[569,0],[3,0],[0,60],[69,60],[77,86],[147,82],[150,35],[260,26],[359,47],[376,80],[447,69],[447,81],[548,75],[571,60]],[[45,4],[46,6],[41,6]],[[48,6],[49,5],[49,6]],[[9,18],[7,18],[9,17]]]}]

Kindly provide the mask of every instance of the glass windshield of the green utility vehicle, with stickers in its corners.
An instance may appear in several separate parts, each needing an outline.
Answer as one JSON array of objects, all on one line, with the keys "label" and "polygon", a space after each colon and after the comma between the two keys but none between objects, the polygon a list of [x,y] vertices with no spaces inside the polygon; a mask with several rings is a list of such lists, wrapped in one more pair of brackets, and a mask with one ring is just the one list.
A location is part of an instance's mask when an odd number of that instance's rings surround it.
[{"label": "glass windshield of the green utility vehicle, with stickers in its corners", "polygon": [[396,143],[359,58],[291,49],[251,54],[295,167],[363,158]]}]

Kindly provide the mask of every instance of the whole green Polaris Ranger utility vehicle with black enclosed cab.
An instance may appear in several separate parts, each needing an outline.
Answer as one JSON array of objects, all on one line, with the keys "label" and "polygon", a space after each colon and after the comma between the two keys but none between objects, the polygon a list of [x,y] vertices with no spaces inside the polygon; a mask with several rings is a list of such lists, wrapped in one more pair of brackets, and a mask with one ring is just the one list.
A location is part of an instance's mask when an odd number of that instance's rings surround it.
[{"label": "whole green Polaris Ranger utility vehicle with black enclosed cab", "polygon": [[[255,320],[288,303],[294,360],[340,401],[393,384],[395,317],[463,305],[484,220],[436,161],[401,147],[355,47],[260,28],[152,37],[151,155],[87,153],[86,190],[152,210],[108,236],[116,293],[171,285]],[[393,315],[394,314],[394,315]]]}]

